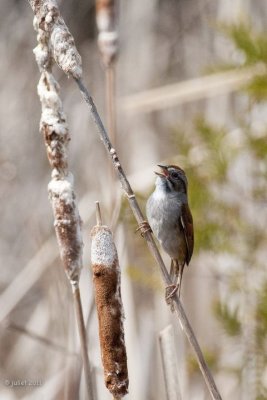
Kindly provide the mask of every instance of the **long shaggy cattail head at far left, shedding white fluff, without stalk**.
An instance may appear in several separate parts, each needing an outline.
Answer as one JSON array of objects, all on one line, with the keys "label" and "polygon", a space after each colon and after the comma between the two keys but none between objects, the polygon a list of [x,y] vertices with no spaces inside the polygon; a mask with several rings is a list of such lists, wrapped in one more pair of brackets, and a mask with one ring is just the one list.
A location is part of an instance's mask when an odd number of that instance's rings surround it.
[{"label": "long shaggy cattail head at far left, shedding white fluff, without stalk", "polygon": [[[54,61],[50,34],[55,32],[55,21],[59,21],[60,17],[54,1],[43,2],[42,7],[42,12],[46,12],[43,24],[40,22],[41,11],[34,19],[34,26],[38,32],[38,46],[34,53],[41,71],[38,84],[42,105],[40,131],[52,167],[48,191],[54,212],[60,256],[69,280],[77,283],[82,267],[81,220],[75,201],[72,175],[68,171],[69,130],[59,97],[59,85],[52,74]],[[62,22],[60,25],[64,27]]]}]

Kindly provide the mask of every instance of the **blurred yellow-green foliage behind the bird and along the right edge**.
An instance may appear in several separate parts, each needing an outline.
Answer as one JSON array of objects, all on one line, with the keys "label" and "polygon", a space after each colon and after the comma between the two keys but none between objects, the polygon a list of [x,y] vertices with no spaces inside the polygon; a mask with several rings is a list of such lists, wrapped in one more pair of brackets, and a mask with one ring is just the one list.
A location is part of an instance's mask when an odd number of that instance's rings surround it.
[{"label": "blurred yellow-green foliage behind the bird and along the right edge", "polygon": [[[248,208],[242,209],[242,201],[244,196],[244,202],[249,205],[250,210],[253,210],[255,216],[260,212],[262,218],[266,218],[267,126],[261,126],[260,130],[259,128],[256,130],[250,121],[255,118],[253,113],[255,101],[267,100],[267,35],[253,31],[251,25],[244,23],[224,25],[222,30],[230,38],[237,51],[243,55],[239,64],[233,66],[235,71],[245,66],[255,66],[256,71],[255,76],[245,88],[249,106],[243,110],[243,115],[238,116],[236,124],[243,134],[241,144],[235,146],[231,143],[227,127],[214,126],[202,116],[195,118],[186,133],[181,128],[177,129],[174,140],[184,160],[188,163],[186,171],[190,182],[190,206],[195,225],[195,252],[208,250],[217,254],[231,253],[239,259],[240,265],[249,265],[249,269],[242,270],[240,267],[239,270],[234,269],[228,274],[225,284],[226,298],[234,296],[235,310],[231,310],[226,300],[216,301],[213,312],[225,335],[231,338],[233,344],[236,344],[236,349],[240,348],[240,341],[246,337],[244,330],[248,323],[248,315],[245,314],[248,313],[250,318],[254,319],[252,323],[255,326],[255,331],[253,331],[255,337],[250,338],[250,341],[254,343],[255,340],[255,345],[253,344],[254,347],[248,348],[247,351],[255,360],[257,399],[261,400],[267,398],[265,395],[267,389],[262,381],[260,367],[267,362],[267,281],[262,282],[259,279],[264,269],[266,270],[266,265],[262,265],[257,255],[263,251],[266,252],[267,234],[266,226],[253,223],[251,217],[247,217],[244,210]],[[262,74],[259,73],[259,65],[263,67]],[[222,68],[225,69],[225,65]],[[229,69],[229,63],[227,68]],[[194,157],[195,149],[197,149],[196,158]],[[243,163],[244,160],[249,162],[250,168],[246,169],[246,171],[249,170],[249,176],[241,177],[245,180],[245,187],[246,179],[248,179],[246,190],[236,188],[231,182],[233,166],[240,160]],[[236,200],[231,199],[231,196],[230,200],[226,200],[221,195],[225,192],[235,194]],[[251,284],[251,279],[259,282],[257,289]],[[248,287],[244,286],[246,282],[249,282]],[[255,308],[249,310],[244,308],[244,291],[250,299],[253,298]],[[252,301],[252,304],[254,302]],[[205,354],[205,357],[209,358],[209,355]],[[194,359],[190,357],[188,367],[191,372],[194,372],[197,367]],[[229,373],[238,374],[242,379],[241,370],[244,365],[240,364],[234,368],[230,366],[232,370],[227,366],[224,368]]]}]

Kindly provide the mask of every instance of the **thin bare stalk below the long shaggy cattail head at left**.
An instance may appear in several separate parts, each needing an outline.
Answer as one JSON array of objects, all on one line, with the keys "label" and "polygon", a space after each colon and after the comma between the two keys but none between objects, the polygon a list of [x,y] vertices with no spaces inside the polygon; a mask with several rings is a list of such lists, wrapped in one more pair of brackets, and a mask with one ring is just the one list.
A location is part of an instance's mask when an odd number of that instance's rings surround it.
[{"label": "thin bare stalk below the long shaggy cattail head at left", "polygon": [[91,371],[90,362],[89,362],[89,355],[88,355],[88,349],[87,349],[87,337],[86,337],[85,323],[84,323],[84,318],[83,318],[80,288],[79,288],[78,283],[72,283],[72,293],[73,293],[73,302],[74,302],[74,307],[75,307],[76,321],[77,321],[77,325],[78,325],[78,331],[79,331],[80,342],[81,342],[81,354],[82,354],[82,359],[83,359],[83,368],[84,368],[84,375],[85,375],[88,398],[90,400],[94,400],[93,384],[92,384],[92,379],[91,379],[92,371]]}]

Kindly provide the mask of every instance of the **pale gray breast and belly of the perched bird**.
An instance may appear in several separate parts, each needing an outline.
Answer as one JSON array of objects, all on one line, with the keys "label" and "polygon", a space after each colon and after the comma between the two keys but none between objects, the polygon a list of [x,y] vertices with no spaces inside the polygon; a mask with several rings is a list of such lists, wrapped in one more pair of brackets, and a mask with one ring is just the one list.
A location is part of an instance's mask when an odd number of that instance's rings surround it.
[{"label": "pale gray breast and belly of the perched bird", "polygon": [[183,247],[183,235],[180,234],[179,219],[182,203],[177,196],[156,189],[149,197],[146,214],[152,231],[166,253],[171,258],[179,257],[179,248]]}]

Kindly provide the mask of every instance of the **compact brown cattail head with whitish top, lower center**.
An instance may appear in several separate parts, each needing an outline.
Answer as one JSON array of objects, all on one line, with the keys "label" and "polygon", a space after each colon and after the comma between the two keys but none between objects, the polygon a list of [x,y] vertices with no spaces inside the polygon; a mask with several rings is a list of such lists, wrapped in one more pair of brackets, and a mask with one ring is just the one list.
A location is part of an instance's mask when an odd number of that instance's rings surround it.
[{"label": "compact brown cattail head with whitish top, lower center", "polygon": [[114,398],[127,393],[128,370],[120,291],[120,267],[112,233],[107,226],[91,231],[91,261],[105,384]]}]

